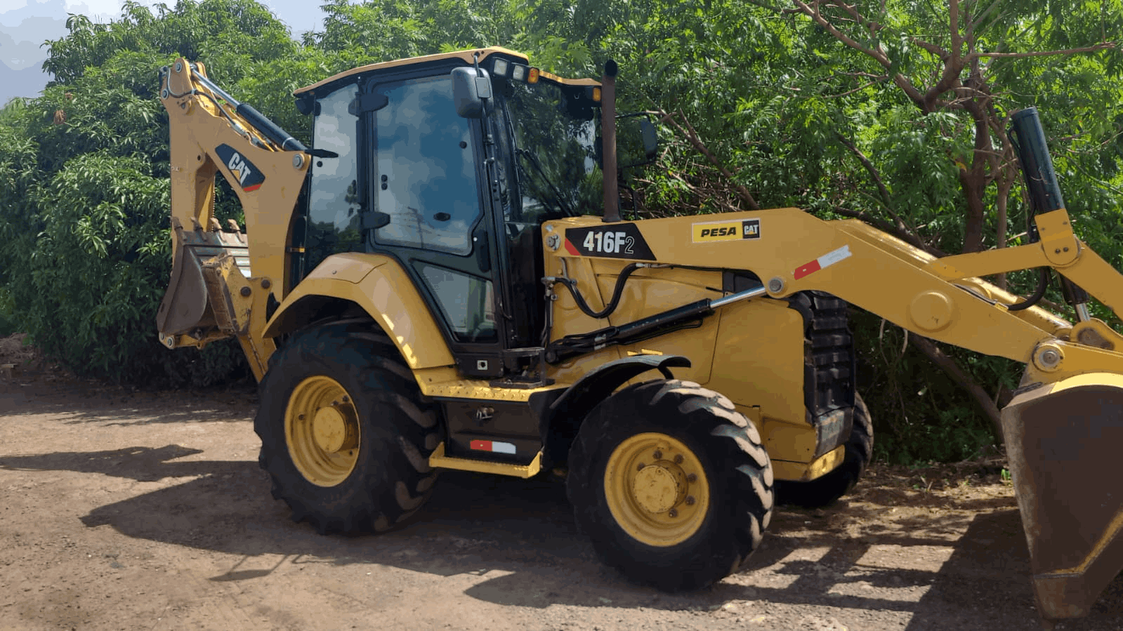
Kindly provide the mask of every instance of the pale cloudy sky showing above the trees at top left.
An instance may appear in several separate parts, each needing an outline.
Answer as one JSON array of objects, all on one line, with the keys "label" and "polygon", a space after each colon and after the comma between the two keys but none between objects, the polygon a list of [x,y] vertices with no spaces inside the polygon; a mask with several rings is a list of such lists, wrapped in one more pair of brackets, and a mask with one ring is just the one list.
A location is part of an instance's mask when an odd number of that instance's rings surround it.
[{"label": "pale cloudy sky showing above the trees at top left", "polygon": [[[323,28],[320,0],[258,0],[268,7],[294,37]],[[140,0],[154,6],[158,0]],[[174,0],[165,0],[174,6]],[[120,0],[0,0],[0,106],[12,97],[38,97],[48,75],[43,72],[47,51],[42,44],[66,34],[67,13],[107,22],[120,16]]]}]

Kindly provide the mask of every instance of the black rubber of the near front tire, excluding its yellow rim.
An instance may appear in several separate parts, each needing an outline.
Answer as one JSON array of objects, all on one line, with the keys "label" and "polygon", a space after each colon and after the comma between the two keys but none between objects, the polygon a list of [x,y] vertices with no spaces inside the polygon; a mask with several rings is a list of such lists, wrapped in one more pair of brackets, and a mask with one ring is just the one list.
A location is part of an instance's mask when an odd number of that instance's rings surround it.
[{"label": "black rubber of the near front tire, excluding its yellow rim", "polygon": [[[645,432],[685,443],[709,482],[701,527],[674,546],[630,536],[605,497],[613,451]],[[729,399],[695,383],[658,379],[626,387],[590,412],[569,452],[566,491],[577,525],[605,564],[637,583],[677,592],[737,571],[757,548],[772,518],[773,470],[757,429]]]}]

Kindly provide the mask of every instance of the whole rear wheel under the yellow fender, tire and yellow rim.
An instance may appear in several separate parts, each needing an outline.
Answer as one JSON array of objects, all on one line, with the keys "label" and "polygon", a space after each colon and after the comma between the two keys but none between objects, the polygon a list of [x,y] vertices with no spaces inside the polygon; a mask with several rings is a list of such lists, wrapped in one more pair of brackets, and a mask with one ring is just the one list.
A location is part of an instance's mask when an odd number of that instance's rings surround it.
[{"label": "whole rear wheel under the yellow fender, tire and yellow rim", "polygon": [[294,333],[259,386],[258,461],[293,520],[321,534],[390,530],[424,503],[437,477],[436,410],[394,345],[368,326]]}]

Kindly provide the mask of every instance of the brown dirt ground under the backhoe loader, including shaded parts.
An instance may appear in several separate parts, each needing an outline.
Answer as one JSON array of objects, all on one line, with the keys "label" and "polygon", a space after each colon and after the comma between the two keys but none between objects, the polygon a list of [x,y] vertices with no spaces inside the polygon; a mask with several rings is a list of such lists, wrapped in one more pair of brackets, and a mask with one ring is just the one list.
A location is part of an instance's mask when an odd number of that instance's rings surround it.
[{"label": "brown dirt ground under the backhoe loader, including shaded parts", "polygon": [[[270,496],[252,387],[108,387],[10,339],[0,629],[1039,629],[996,459],[875,466],[836,506],[778,510],[741,573],[663,594],[597,561],[550,479],[449,472],[404,530],[318,536]],[[1123,629],[1123,579],[1059,629]]]}]

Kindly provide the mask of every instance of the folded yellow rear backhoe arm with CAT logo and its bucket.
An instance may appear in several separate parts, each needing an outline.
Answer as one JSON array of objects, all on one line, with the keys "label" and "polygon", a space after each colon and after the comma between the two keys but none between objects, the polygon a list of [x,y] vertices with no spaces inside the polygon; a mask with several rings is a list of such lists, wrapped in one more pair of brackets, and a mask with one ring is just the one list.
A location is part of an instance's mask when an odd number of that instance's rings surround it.
[{"label": "folded yellow rear backhoe arm with CAT logo and its bucket", "polygon": [[[261,379],[273,340],[263,337],[270,298],[289,289],[293,212],[309,154],[252,107],[177,60],[162,72],[172,171],[172,277],[156,316],[167,348],[235,337]],[[221,173],[245,212],[243,231],[213,217]]]}]

